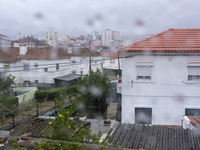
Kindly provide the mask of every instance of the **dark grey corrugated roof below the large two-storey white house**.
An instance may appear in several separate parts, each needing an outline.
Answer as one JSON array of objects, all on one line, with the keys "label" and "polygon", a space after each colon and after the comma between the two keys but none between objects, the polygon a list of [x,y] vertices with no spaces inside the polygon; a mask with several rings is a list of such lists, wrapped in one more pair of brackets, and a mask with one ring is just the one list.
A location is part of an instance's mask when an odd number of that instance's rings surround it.
[{"label": "dark grey corrugated roof below the large two-storey white house", "polygon": [[197,150],[200,149],[199,133],[199,129],[119,123],[107,139],[110,136],[111,144],[133,149]]}]

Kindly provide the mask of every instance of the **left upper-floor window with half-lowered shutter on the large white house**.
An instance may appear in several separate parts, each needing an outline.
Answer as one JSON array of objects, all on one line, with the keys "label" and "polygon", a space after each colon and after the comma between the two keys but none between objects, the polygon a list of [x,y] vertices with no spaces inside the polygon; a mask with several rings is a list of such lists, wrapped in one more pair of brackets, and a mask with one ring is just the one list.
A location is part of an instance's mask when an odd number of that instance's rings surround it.
[{"label": "left upper-floor window with half-lowered shutter on the large white house", "polygon": [[137,66],[137,80],[152,80],[152,66]]}]

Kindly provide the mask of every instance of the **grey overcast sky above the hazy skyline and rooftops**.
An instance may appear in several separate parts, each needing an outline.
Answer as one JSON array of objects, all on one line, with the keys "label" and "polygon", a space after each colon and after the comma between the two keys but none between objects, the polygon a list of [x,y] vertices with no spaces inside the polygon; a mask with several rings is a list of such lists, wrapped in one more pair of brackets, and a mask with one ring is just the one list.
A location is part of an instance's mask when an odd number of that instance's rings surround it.
[{"label": "grey overcast sky above the hazy skyline and rooftops", "polygon": [[0,0],[0,34],[45,37],[120,31],[122,37],[200,28],[200,0]]}]

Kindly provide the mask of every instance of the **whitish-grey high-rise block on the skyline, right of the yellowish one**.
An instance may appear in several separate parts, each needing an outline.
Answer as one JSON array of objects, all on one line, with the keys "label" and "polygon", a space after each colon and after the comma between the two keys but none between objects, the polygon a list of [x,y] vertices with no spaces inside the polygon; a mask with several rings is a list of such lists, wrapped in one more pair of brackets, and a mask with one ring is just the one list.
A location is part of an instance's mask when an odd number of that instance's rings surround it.
[{"label": "whitish-grey high-rise block on the skyline, right of the yellowish one", "polygon": [[120,32],[112,31],[111,29],[105,29],[102,31],[102,46],[113,46],[114,41],[120,40]]}]

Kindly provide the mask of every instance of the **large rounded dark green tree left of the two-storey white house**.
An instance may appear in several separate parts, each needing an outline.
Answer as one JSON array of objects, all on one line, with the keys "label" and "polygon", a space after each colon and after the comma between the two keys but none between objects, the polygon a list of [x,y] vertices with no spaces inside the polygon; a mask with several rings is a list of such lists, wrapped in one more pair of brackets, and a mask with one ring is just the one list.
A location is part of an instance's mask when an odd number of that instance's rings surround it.
[{"label": "large rounded dark green tree left of the two-storey white house", "polygon": [[106,117],[108,106],[108,96],[110,94],[110,80],[97,69],[96,72],[90,71],[90,74],[83,77],[77,83],[78,99],[87,106],[87,110],[100,112]]}]

